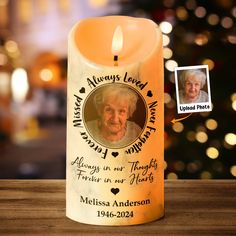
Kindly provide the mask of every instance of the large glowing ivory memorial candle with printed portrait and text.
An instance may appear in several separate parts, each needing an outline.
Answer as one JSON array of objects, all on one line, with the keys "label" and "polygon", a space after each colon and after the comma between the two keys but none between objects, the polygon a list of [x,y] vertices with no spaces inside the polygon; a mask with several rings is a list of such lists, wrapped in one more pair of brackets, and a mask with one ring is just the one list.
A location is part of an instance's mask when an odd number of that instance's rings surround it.
[{"label": "large glowing ivory memorial candle with printed portrait and text", "polygon": [[68,41],[66,215],[133,225],[164,215],[162,35],[148,19],[89,18]]}]

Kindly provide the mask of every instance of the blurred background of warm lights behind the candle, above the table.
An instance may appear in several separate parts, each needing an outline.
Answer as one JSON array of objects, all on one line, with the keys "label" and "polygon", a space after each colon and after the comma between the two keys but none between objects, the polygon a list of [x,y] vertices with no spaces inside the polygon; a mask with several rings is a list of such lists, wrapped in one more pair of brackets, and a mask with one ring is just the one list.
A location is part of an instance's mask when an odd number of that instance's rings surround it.
[{"label": "blurred background of warm lights behind the candle, above the table", "polygon": [[[235,1],[0,0],[0,12],[0,178],[65,177],[67,35],[78,20],[114,14],[172,26],[163,32],[164,51],[172,52],[164,53],[165,177],[236,177]],[[209,65],[213,110],[173,124],[182,117],[174,66],[202,64]],[[3,85],[18,67],[29,81],[23,102]]]}]

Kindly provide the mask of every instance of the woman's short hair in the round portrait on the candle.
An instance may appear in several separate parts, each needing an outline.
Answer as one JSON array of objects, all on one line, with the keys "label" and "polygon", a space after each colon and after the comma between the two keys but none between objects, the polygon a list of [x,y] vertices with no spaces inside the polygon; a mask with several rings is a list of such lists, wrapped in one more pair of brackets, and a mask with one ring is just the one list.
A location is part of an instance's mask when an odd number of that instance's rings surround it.
[{"label": "woman's short hair in the round portrait on the candle", "polygon": [[129,103],[129,117],[132,117],[138,101],[136,92],[123,84],[110,84],[98,89],[94,96],[94,105],[99,115],[101,115],[103,105],[109,96],[114,96],[117,100],[126,99]]}]

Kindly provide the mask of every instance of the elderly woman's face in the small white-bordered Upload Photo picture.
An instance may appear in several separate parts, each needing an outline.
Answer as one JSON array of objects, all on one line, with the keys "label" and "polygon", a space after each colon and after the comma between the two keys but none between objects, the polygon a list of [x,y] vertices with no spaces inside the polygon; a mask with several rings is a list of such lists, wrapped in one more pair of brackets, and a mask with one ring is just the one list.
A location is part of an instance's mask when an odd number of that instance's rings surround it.
[{"label": "elderly woman's face in the small white-bordered Upload Photo picture", "polygon": [[198,98],[199,91],[201,89],[201,81],[195,76],[189,76],[185,81],[185,97],[194,101]]}]

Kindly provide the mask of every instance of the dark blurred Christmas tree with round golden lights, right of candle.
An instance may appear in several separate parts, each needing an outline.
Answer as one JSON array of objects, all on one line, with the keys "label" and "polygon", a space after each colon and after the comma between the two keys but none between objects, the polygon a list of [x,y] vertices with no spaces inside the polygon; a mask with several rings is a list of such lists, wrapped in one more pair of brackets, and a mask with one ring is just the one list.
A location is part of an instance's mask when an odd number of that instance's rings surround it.
[{"label": "dark blurred Christmas tree with round golden lights, right of candle", "polygon": [[[233,0],[121,0],[121,14],[160,25],[165,59],[166,178],[236,177],[236,5]],[[212,112],[175,124],[174,67],[209,66]]]}]

